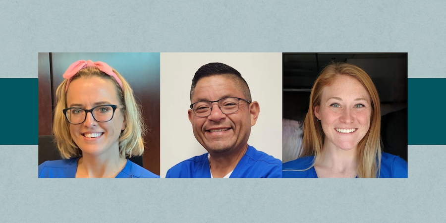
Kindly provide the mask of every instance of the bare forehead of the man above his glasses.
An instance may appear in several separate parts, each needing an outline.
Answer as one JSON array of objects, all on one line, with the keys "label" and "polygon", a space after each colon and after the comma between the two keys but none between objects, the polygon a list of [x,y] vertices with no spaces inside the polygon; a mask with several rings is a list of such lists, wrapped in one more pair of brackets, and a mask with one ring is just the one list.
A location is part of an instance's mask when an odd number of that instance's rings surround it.
[{"label": "bare forehead of the man above his glasses", "polygon": [[214,75],[200,79],[195,85],[192,103],[216,101],[225,97],[243,98],[239,84],[225,75]]}]

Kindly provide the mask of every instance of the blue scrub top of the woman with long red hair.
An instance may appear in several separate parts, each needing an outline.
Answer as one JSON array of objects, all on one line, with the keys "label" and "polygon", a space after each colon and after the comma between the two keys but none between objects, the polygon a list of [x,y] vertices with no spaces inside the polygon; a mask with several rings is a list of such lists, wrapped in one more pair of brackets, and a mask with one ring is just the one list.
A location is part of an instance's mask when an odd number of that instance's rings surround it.
[{"label": "blue scrub top of the woman with long red hair", "polygon": [[[297,160],[289,161],[283,164],[283,178],[318,178],[313,165],[313,156],[302,157]],[[381,154],[380,178],[407,178],[407,162],[398,156],[389,153]]]}]

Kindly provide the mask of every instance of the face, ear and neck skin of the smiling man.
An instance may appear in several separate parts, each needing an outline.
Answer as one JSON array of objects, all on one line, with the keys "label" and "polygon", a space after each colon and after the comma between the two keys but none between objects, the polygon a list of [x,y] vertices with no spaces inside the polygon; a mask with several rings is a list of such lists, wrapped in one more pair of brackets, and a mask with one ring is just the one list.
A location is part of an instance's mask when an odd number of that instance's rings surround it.
[{"label": "face, ear and neck skin of the smiling man", "polygon": [[[222,75],[202,78],[195,86],[191,103],[217,101],[227,97],[245,98],[237,83]],[[211,172],[214,177],[223,177],[235,166],[248,149],[248,138],[258,118],[260,107],[257,102],[248,104],[240,101],[239,110],[224,114],[218,103],[212,104],[212,112],[207,117],[197,117],[188,111],[189,120],[197,141],[211,155]],[[211,132],[210,130],[225,129]]]}]

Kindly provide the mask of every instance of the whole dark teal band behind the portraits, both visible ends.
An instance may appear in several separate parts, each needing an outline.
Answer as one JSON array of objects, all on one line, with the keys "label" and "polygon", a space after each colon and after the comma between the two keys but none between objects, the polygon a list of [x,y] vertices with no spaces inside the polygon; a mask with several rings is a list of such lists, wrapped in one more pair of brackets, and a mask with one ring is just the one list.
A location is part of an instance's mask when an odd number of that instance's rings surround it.
[{"label": "whole dark teal band behind the portraits, both visible ends", "polygon": [[[37,145],[37,78],[0,78],[0,85],[0,145]],[[445,91],[446,78],[409,78],[409,145],[446,145]]]}]

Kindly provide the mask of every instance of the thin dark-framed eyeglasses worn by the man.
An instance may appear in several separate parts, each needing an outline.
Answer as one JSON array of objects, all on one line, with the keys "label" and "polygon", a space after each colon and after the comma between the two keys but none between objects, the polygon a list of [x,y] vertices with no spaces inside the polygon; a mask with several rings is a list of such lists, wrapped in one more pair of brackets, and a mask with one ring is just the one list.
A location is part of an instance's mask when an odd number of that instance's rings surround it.
[{"label": "thin dark-framed eyeglasses worn by the man", "polygon": [[212,103],[217,102],[219,104],[220,110],[224,114],[231,114],[238,111],[240,100],[245,101],[248,104],[251,103],[248,100],[242,98],[230,97],[230,98],[222,98],[220,100],[213,102],[211,101],[196,102],[190,105],[190,109],[192,109],[192,111],[194,111],[194,114],[197,115],[198,117],[206,117],[211,114]]}]

